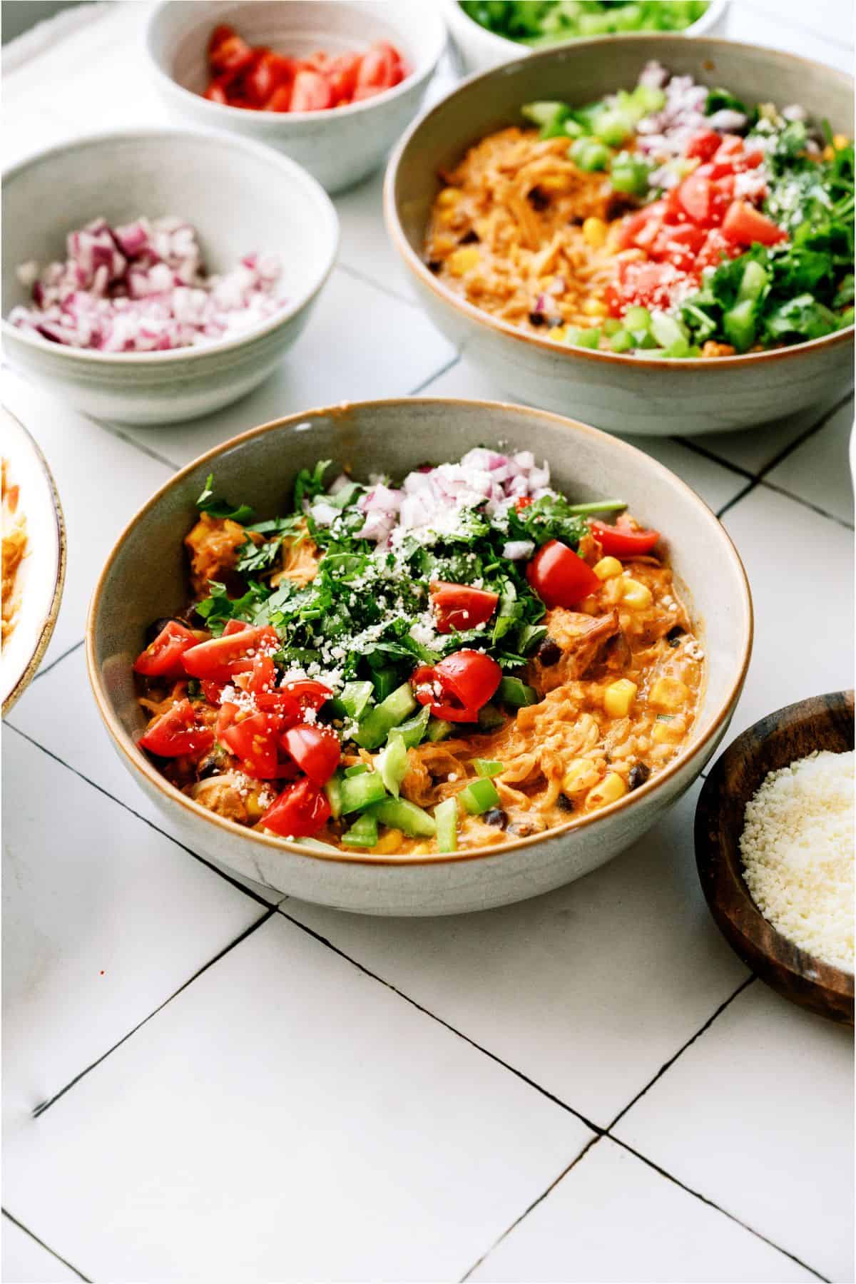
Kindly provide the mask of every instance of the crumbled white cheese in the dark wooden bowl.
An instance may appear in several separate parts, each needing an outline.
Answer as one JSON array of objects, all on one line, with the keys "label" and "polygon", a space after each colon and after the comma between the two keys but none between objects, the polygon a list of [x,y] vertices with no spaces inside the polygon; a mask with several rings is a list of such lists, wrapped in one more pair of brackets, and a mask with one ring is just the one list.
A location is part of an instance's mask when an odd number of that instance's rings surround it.
[{"label": "crumbled white cheese in the dark wooden bowl", "polygon": [[800,949],[853,971],[853,754],[821,750],[770,772],[746,806],[743,877]]}]

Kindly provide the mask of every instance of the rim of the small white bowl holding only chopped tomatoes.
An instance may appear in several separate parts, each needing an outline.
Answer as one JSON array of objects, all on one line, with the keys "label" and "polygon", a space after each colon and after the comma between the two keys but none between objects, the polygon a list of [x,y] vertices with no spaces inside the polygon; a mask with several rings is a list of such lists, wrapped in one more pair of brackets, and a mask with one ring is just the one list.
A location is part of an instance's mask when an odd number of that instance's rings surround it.
[{"label": "rim of the small white bowl holding only chopped tomatoes", "polygon": [[[198,107],[201,104],[200,110],[208,110],[210,114],[212,127],[219,123],[222,128],[228,121],[246,121],[248,113],[244,108],[230,107],[227,103],[212,103],[210,99],[203,98],[201,94],[194,94],[193,90],[185,89],[184,85],[180,85],[178,81],[160,65],[151,48],[154,28],[160,21],[164,10],[168,9],[172,3],[173,0],[158,0],[158,4],[154,5],[146,19],[142,40],[149,67],[155,73],[158,81],[167,86],[169,91],[177,92],[181,98],[190,99]],[[326,3],[335,4],[339,8],[352,8],[349,0],[326,0]],[[237,8],[237,4],[235,6]],[[262,131],[276,134],[281,130],[285,122],[300,125],[303,122],[314,121],[318,123],[320,121],[329,121],[331,118],[361,116],[364,112],[370,112],[373,107],[377,107],[379,103],[391,103],[398,98],[403,98],[408,90],[417,89],[420,85],[425,83],[429,76],[434,73],[447,41],[445,23],[439,9],[435,9],[430,4],[421,4],[420,13],[430,15],[427,22],[434,24],[434,45],[424,65],[421,68],[415,67],[413,71],[409,72],[409,74],[407,74],[398,85],[393,85],[391,89],[385,89],[381,94],[375,94],[372,98],[363,99],[361,103],[348,103],[347,107],[326,108],[322,112],[257,110],[252,113],[253,121],[258,122]]]}]

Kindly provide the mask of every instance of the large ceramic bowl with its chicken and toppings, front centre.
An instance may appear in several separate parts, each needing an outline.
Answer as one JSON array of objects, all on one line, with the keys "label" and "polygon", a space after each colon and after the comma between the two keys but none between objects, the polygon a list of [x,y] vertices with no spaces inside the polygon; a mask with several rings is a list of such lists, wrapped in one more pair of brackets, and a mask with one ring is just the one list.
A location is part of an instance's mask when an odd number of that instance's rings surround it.
[{"label": "large ceramic bowl with its chicken and toppings, front centre", "polygon": [[683,482],[543,411],[295,415],[189,465],[87,625],[124,764],[195,850],[377,914],[501,905],[643,833],[728,727],[739,557]]}]

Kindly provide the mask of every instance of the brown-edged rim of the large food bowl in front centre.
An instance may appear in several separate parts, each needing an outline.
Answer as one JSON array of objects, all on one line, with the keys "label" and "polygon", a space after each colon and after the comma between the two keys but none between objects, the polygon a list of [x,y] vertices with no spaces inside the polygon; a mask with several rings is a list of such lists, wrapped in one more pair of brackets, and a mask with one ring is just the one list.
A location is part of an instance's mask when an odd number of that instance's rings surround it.
[{"label": "brown-edged rim of the large food bowl in front centre", "polygon": [[[349,415],[354,408],[363,410],[367,407],[377,407],[377,406],[403,406],[403,404],[412,406],[413,403],[441,404],[449,407],[481,406],[488,410],[513,410],[517,415],[521,416],[538,416],[539,419],[547,417],[556,425],[561,425],[563,429],[567,429],[570,426],[575,431],[586,433],[590,437],[595,438],[603,438],[607,442],[610,442],[611,446],[613,446],[615,448],[625,451],[629,455],[642,455],[651,469],[653,469],[656,473],[665,474],[672,484],[681,487],[683,490],[685,490],[685,493],[698,505],[702,515],[710,523],[711,533],[714,534],[714,537],[725,541],[726,551],[732,557],[734,569],[738,573],[738,578],[743,588],[746,636],[743,639],[742,654],[739,657],[739,672],[734,682],[732,683],[726,698],[721,702],[711,725],[708,727],[702,740],[696,741],[692,746],[687,746],[684,750],[681,750],[678,758],[674,759],[674,761],[671,761],[661,774],[655,776],[653,779],[648,781],[647,785],[642,785],[638,790],[634,790],[633,794],[625,794],[625,796],[619,799],[616,802],[611,802],[608,806],[601,808],[598,811],[593,811],[590,815],[580,817],[576,820],[569,820],[565,824],[556,826],[553,829],[545,829],[543,833],[534,833],[526,838],[517,838],[513,842],[494,844],[488,847],[479,847],[477,850],[466,849],[463,851],[438,854],[434,856],[422,856],[422,855],[415,856],[407,854],[399,856],[395,856],[394,854],[384,856],[372,856],[371,854],[341,851],[340,849],[331,846],[330,855],[327,855],[326,853],[317,851],[313,847],[305,847],[299,842],[286,842],[284,838],[278,838],[276,835],[259,833],[257,829],[245,829],[243,826],[235,824],[232,820],[226,820],[222,817],[217,815],[214,811],[209,811],[199,802],[195,802],[193,799],[189,799],[186,794],[182,794],[181,790],[177,790],[158,770],[155,770],[155,768],[151,765],[145,754],[142,754],[141,750],[137,749],[137,746],[131,741],[131,737],[127,734],[124,728],[119,724],[119,720],[113,714],[109,701],[103,691],[101,678],[98,672],[98,664],[95,659],[95,618],[99,612],[101,593],[104,591],[104,582],[107,579],[107,574],[110,566],[113,565],[118,550],[124,543],[124,539],[127,538],[128,533],[133,529],[140,517],[145,516],[145,514],[149,512],[158,503],[160,497],[166,494],[167,490],[175,487],[190,473],[196,470],[200,465],[208,466],[213,462],[214,458],[217,458],[227,449],[228,451],[234,449],[234,447],[237,446],[239,443],[253,440],[253,438],[261,437],[263,433],[273,431],[275,429],[282,428],[287,424],[299,424],[303,422],[304,420],[317,419],[321,416],[327,419],[343,419],[347,415]],[[749,656],[752,655],[753,632],[755,632],[755,619],[752,611],[752,594],[749,592],[749,584],[746,575],[746,570],[743,568],[743,562],[740,561],[740,556],[737,548],[734,547],[730,535],[728,534],[725,528],[720,524],[716,515],[707,507],[705,501],[696,494],[692,487],[688,487],[687,483],[681,482],[681,479],[676,476],[674,473],[671,473],[670,469],[657,462],[657,460],[651,458],[651,456],[644,455],[644,452],[639,451],[635,446],[630,446],[629,442],[624,442],[620,438],[611,437],[608,433],[602,433],[599,429],[592,428],[589,424],[580,424],[579,420],[571,420],[563,415],[554,415],[551,411],[535,410],[534,407],[530,406],[515,406],[511,402],[494,402],[494,401],[485,401],[483,398],[463,398],[463,397],[381,397],[371,401],[340,402],[336,406],[317,407],[314,410],[302,411],[296,415],[286,415],[282,419],[270,420],[267,424],[261,424],[258,428],[252,428],[246,433],[240,433],[237,437],[232,437],[227,442],[221,442],[219,446],[213,447],[210,451],[207,451],[204,455],[200,455],[190,464],[186,464],[184,469],[176,473],[175,476],[169,478],[168,482],[166,482],[158,490],[155,490],[151,498],[146,503],[144,503],[144,506],[131,519],[131,521],[127,524],[124,530],[116,541],[104,564],[104,569],[101,570],[101,574],[98,578],[98,583],[95,586],[92,600],[90,602],[89,614],[86,618],[86,666],[89,670],[89,679],[92,687],[95,701],[99,707],[99,713],[101,714],[104,724],[107,725],[108,732],[113,737],[117,749],[119,749],[121,752],[124,755],[124,758],[128,760],[128,763],[137,770],[141,770],[142,774],[146,777],[146,779],[149,779],[160,792],[166,794],[167,797],[169,797],[173,802],[181,804],[181,806],[184,806],[187,811],[190,811],[199,819],[207,820],[209,824],[214,824],[218,828],[226,831],[227,833],[235,835],[236,837],[237,836],[249,837],[253,841],[263,842],[266,846],[272,847],[273,850],[277,851],[285,849],[293,855],[313,856],[314,859],[321,859],[321,860],[335,860],[340,864],[349,864],[349,865],[353,864],[435,865],[435,864],[450,864],[458,860],[481,860],[485,856],[502,856],[508,851],[513,851],[520,847],[529,847],[538,842],[543,842],[544,838],[547,838],[548,836],[566,833],[570,829],[583,829],[586,826],[595,823],[604,815],[613,815],[617,811],[624,810],[626,806],[635,802],[637,799],[647,797],[653,792],[656,792],[665,781],[670,779],[679,770],[681,770],[681,768],[684,768],[687,763],[689,763],[689,760],[694,758],[699,752],[699,750],[702,750],[705,745],[707,745],[714,738],[714,736],[720,729],[723,723],[726,722],[726,719],[730,716],[730,710],[737,697],[740,693],[746,678],[746,672],[748,669]],[[130,745],[128,741],[131,741]]]}]

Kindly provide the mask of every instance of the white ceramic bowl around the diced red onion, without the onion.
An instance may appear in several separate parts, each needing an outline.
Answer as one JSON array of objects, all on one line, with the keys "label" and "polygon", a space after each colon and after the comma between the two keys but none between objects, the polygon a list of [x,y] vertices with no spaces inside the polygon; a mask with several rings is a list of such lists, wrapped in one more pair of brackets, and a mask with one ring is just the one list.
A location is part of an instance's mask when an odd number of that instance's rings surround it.
[{"label": "white ceramic bowl around the diced red onion, without the onion", "polygon": [[[208,415],[262,383],[305,325],[339,247],[326,193],[293,160],[230,134],[127,130],[51,148],[3,178],[3,334],[9,362],[96,419],[166,424]],[[181,214],[209,271],[250,250],[282,259],[282,308],[225,343],[104,353],[47,343],[5,320],[27,303],[19,263],[65,257],[65,235],[103,214]]]}]

